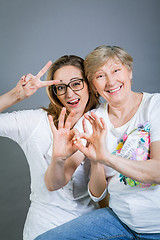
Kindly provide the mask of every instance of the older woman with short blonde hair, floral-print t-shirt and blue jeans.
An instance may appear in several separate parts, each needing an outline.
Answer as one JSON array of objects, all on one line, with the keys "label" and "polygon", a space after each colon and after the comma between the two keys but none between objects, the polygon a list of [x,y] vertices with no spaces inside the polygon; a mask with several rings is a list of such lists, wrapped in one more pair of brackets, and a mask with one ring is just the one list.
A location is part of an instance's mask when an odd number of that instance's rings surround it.
[{"label": "older woman with short blonde hair, floral-print t-shirt and blue jeans", "polygon": [[[112,169],[109,208],[96,210],[42,235],[40,239],[160,239],[160,94],[131,90],[132,57],[120,47],[100,46],[85,59],[95,92],[106,103],[91,114],[89,133],[74,147]],[[86,124],[83,122],[86,131]],[[81,122],[77,129],[82,131]],[[106,172],[107,173],[107,172]],[[90,195],[98,200],[99,176]]]}]

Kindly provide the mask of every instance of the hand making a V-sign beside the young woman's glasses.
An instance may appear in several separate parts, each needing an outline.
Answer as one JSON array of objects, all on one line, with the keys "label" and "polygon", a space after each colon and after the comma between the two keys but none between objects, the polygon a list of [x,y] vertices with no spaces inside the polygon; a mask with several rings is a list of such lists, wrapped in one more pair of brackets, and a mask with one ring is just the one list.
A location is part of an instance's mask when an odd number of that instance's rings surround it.
[{"label": "hand making a V-sign beside the young woman's glasses", "polygon": [[39,88],[51,86],[59,83],[58,80],[41,81],[40,78],[47,72],[52,62],[49,61],[40,71],[34,76],[31,73],[23,75],[16,86],[17,92],[20,93],[20,100],[32,96]]}]

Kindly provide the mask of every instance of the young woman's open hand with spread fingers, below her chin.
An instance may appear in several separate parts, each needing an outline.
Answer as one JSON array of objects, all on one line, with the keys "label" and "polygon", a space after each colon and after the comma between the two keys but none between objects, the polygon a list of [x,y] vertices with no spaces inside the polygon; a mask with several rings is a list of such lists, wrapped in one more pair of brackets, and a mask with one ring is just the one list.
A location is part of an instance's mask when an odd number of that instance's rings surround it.
[{"label": "young woman's open hand with spread fingers, below her chin", "polygon": [[48,116],[53,133],[53,157],[63,159],[64,161],[77,150],[72,142],[72,138],[75,135],[75,132],[78,134],[77,130],[70,130],[75,113],[71,111],[66,121],[65,114],[66,108],[62,108],[58,128],[55,127],[52,116]]}]

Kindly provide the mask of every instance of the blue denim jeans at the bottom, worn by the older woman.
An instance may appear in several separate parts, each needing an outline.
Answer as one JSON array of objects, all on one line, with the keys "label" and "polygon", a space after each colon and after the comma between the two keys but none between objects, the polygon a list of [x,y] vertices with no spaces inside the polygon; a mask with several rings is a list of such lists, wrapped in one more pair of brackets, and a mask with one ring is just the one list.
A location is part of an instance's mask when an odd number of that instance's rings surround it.
[{"label": "blue denim jeans at the bottom, worn by the older woman", "polygon": [[160,240],[158,234],[138,234],[123,224],[109,208],[101,208],[56,227],[35,240]]}]

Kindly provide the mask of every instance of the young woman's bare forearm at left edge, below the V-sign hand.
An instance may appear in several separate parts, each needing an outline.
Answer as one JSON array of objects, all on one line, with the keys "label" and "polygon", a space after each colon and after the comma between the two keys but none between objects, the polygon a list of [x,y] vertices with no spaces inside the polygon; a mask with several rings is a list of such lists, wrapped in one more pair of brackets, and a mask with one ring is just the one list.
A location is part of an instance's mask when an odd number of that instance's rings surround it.
[{"label": "young woman's bare forearm at left edge, below the V-sign hand", "polygon": [[11,91],[0,96],[0,112],[21,101],[20,92],[13,88]]}]

